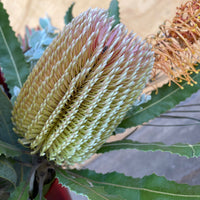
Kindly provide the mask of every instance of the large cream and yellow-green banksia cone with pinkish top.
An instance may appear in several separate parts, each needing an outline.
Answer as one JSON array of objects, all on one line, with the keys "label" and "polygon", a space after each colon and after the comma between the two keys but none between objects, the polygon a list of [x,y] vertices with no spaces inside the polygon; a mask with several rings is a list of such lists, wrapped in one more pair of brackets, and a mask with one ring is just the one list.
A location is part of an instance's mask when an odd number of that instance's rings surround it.
[{"label": "large cream and yellow-green banksia cone with pinkish top", "polygon": [[153,67],[150,45],[102,9],[65,26],[29,75],[13,109],[16,133],[57,164],[82,162],[112,135]]}]

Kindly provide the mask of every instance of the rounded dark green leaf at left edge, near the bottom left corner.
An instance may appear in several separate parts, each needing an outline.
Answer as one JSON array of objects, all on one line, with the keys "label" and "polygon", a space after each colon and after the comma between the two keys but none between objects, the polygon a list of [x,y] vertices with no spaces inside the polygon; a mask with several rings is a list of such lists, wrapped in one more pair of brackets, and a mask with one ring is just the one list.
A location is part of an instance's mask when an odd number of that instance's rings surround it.
[{"label": "rounded dark green leaf at left edge, near the bottom left corner", "polygon": [[0,160],[0,178],[7,180],[14,186],[17,183],[17,174],[12,165],[5,159]]}]

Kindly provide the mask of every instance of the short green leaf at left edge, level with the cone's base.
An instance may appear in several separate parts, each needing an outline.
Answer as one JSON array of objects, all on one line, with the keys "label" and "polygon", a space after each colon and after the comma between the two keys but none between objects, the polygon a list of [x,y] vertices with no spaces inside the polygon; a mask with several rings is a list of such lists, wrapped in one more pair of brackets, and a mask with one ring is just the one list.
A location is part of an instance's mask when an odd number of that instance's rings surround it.
[{"label": "short green leaf at left edge, level with the cone's base", "polygon": [[6,157],[17,157],[22,155],[22,151],[16,146],[0,140],[0,155],[2,154]]}]

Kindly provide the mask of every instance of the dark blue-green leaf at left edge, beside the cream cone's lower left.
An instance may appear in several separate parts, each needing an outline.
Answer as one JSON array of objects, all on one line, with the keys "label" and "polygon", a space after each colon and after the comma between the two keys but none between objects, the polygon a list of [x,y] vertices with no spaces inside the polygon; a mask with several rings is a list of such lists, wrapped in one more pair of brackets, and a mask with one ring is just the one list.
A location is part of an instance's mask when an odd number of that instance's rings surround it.
[{"label": "dark blue-green leaf at left edge, beside the cream cone's lower left", "polygon": [[0,88],[0,140],[9,144],[18,144],[11,121],[12,104]]}]

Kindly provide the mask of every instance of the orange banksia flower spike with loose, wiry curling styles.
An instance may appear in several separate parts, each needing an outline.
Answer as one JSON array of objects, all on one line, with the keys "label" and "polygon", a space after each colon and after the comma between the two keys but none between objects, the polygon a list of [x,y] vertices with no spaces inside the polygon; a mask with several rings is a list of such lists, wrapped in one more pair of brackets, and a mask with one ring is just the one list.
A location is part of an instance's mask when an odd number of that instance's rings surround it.
[{"label": "orange banksia flower spike with loose, wiry curling styles", "polygon": [[[200,61],[200,1],[193,0],[177,8],[172,21],[160,26],[157,35],[148,38],[155,52],[153,76],[162,71],[171,81],[179,84],[183,80],[193,85],[196,82],[190,75],[198,70],[196,62]],[[182,87],[181,87],[182,88]]]}]

